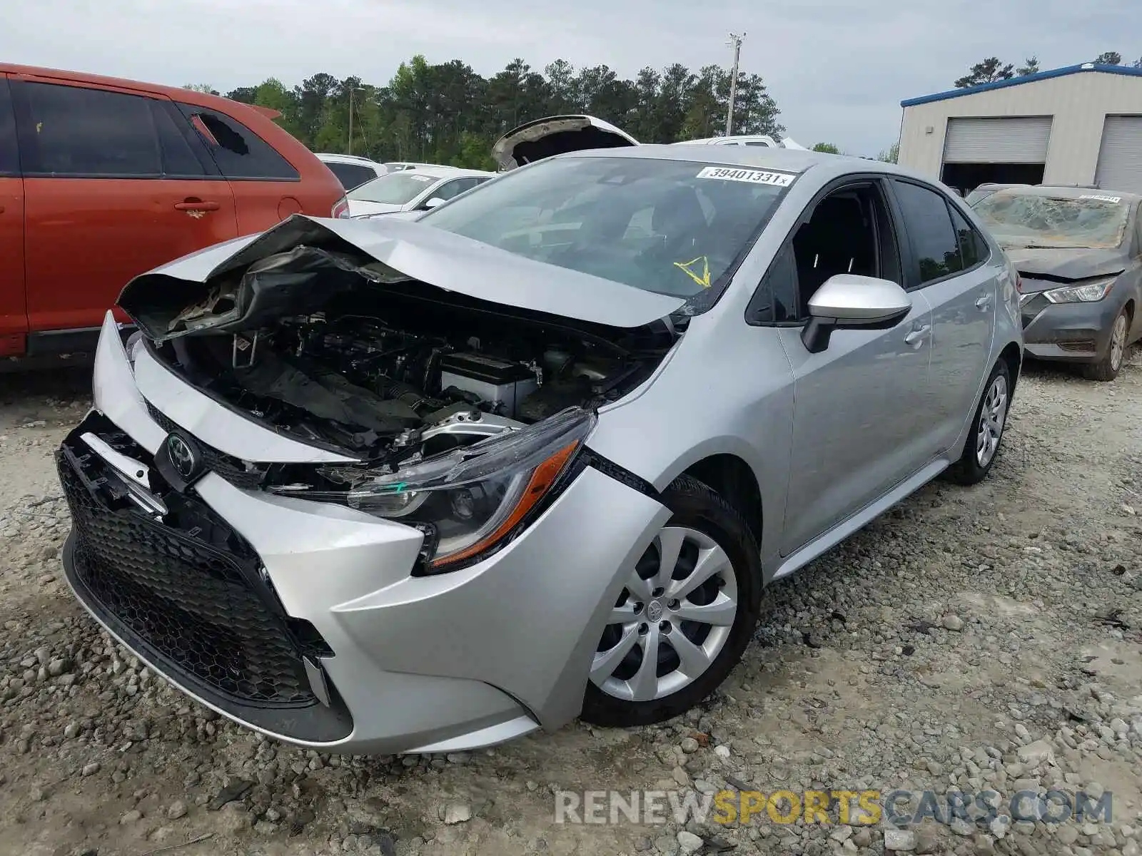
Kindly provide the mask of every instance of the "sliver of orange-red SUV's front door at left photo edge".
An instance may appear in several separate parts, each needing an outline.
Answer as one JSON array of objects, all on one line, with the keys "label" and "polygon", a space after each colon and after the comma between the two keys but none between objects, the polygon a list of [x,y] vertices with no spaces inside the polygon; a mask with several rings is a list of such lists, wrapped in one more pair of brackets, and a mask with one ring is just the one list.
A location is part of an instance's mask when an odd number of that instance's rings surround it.
[{"label": "sliver of orange-red SUV's front door at left photo edge", "polygon": [[0,74],[0,356],[23,353],[25,332],[24,181],[8,78]]}]

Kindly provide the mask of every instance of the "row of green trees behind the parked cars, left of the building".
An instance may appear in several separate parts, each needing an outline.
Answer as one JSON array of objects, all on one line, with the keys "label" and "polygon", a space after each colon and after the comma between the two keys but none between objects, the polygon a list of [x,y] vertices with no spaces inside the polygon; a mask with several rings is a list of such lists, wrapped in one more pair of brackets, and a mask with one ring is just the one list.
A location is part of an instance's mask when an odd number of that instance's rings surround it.
[{"label": "row of green trees behind the parked cars, left of the building", "polygon": [[[203,84],[187,88],[219,94]],[[675,63],[626,80],[605,65],[577,70],[556,59],[538,72],[514,59],[484,78],[460,59],[434,65],[416,56],[386,86],[322,73],[292,88],[270,79],[225,95],[281,112],[278,122],[316,152],[488,169],[501,134],[558,113],[589,113],[644,143],[723,134],[730,72],[717,65],[694,72]],[[739,73],[734,134],[780,135],[779,115],[762,78]]]}]

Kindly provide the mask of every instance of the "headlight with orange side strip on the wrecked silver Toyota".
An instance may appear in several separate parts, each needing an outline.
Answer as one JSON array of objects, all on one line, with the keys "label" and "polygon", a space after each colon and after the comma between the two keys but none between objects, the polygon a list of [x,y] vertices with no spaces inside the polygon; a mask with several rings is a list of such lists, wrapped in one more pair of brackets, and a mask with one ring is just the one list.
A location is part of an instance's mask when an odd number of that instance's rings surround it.
[{"label": "headlight with orange side strip on the wrecked silver Toyota", "polygon": [[325,478],[347,487],[323,491],[321,499],[416,526],[425,533],[425,570],[451,571],[502,546],[531,519],[594,426],[594,413],[568,407],[395,471],[323,467]]}]

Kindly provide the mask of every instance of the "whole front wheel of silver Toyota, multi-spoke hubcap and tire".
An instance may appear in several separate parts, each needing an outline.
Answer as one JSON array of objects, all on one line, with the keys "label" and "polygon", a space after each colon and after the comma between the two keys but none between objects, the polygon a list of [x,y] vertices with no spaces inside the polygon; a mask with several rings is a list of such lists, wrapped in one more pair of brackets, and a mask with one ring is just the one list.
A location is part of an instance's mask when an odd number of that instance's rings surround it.
[{"label": "whole front wheel of silver Toyota, multi-spoke hubcap and tire", "polygon": [[749,526],[689,476],[662,494],[674,511],[628,572],[590,667],[582,719],[660,722],[717,688],[741,659],[761,605]]}]

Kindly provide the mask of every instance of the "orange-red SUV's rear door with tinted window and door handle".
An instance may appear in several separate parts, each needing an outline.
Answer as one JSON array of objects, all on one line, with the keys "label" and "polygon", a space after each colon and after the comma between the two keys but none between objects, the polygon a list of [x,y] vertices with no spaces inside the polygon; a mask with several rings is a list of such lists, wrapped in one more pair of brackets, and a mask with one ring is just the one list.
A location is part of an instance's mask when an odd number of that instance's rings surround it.
[{"label": "orange-red SUV's rear door with tinted window and door handle", "polygon": [[33,332],[96,328],[131,277],[238,235],[230,185],[170,100],[24,75],[13,100]]}]

